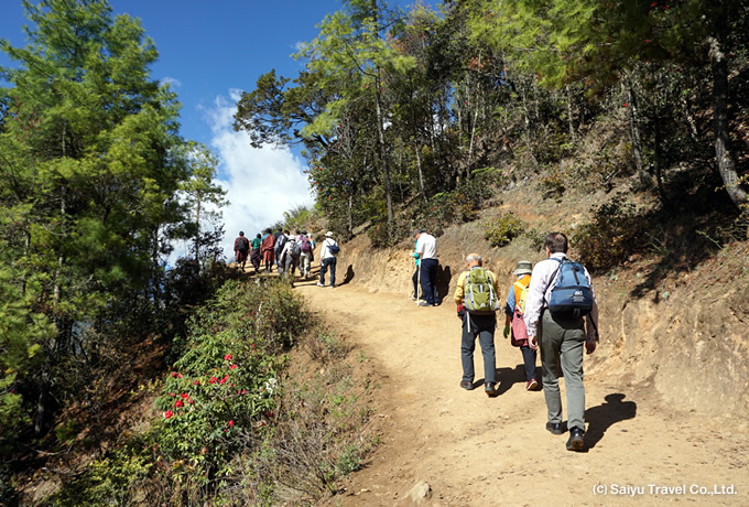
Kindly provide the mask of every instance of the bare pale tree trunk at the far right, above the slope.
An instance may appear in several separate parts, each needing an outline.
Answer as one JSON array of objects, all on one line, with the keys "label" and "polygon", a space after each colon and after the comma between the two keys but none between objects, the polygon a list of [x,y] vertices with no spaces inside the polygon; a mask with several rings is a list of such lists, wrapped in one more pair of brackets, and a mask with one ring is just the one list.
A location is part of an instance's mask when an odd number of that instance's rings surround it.
[{"label": "bare pale tree trunk at the far right, above the slope", "polygon": [[745,214],[747,208],[747,193],[739,184],[736,162],[730,152],[728,125],[728,63],[723,54],[720,43],[716,37],[708,37],[710,66],[713,69],[713,130],[715,136],[715,161],[718,172],[726,185],[726,192],[734,204]]}]

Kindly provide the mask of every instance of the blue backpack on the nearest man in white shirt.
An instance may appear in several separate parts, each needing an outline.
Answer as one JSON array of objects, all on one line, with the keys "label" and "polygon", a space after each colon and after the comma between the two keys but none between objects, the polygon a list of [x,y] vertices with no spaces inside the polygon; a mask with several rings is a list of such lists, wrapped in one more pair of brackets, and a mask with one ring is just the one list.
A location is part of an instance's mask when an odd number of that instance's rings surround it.
[{"label": "blue backpack on the nearest man in white shirt", "polygon": [[[554,317],[563,320],[579,319],[590,313],[593,310],[593,291],[588,279],[585,277],[583,265],[566,258],[556,259],[552,257],[551,259],[557,261],[560,267],[554,271],[558,276],[549,298],[549,311],[552,312]],[[552,277],[553,280],[554,277]]]}]

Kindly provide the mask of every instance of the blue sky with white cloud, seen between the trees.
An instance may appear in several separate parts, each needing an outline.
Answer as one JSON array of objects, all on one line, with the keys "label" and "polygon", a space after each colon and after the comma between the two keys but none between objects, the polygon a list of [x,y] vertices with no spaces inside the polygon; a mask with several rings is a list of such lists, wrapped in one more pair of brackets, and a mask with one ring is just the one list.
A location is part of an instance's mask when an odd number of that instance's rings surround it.
[{"label": "blue sky with white cloud, seen between the trees", "polygon": [[[21,0],[0,0],[0,37],[26,44]],[[154,79],[169,79],[182,108],[185,139],[210,147],[219,157],[219,181],[231,204],[224,208],[227,257],[242,229],[254,235],[283,218],[283,212],[312,204],[304,161],[289,150],[250,148],[234,132],[231,117],[240,90],[275,68],[295,77],[302,63],[291,58],[315,25],[341,9],[339,0],[110,0],[112,13],[139,18],[159,50]],[[405,3],[405,2],[393,2]],[[0,65],[9,65],[0,54]]]}]

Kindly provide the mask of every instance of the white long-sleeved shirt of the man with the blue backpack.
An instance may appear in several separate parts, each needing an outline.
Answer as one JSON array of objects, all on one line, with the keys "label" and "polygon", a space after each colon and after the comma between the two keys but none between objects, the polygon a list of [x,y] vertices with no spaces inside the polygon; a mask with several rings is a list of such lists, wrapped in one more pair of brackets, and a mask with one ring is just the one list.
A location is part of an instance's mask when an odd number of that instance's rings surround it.
[{"label": "white long-sleeved shirt of the man with the blue backpack", "polygon": [[[566,259],[567,256],[564,254],[552,254],[554,259]],[[531,274],[531,284],[528,288],[528,301],[525,301],[525,313],[524,321],[525,327],[528,328],[529,336],[538,336],[539,331],[539,319],[541,319],[541,311],[544,308],[549,308],[549,300],[551,298],[552,289],[554,283],[552,277],[556,273],[560,263],[551,258],[542,260],[533,267],[533,273]],[[598,328],[598,303],[596,302],[596,293],[593,290],[593,283],[590,282],[590,274],[588,270],[583,268],[585,272],[585,278],[590,283],[590,294],[593,295],[593,310],[586,316],[588,320],[588,325],[585,326],[588,339],[596,338],[596,330]],[[556,277],[554,277],[556,279]],[[545,289],[545,291],[544,291]],[[593,320],[594,325],[590,325],[590,320]]]}]

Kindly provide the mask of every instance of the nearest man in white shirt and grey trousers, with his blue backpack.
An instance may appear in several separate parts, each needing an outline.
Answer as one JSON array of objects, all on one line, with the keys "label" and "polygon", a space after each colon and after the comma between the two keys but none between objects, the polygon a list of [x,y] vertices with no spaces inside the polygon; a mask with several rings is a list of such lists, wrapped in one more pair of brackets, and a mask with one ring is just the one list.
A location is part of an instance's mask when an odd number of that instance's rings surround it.
[{"label": "nearest man in white shirt and grey trousers, with his blue backpack", "polygon": [[[543,392],[552,434],[564,433],[560,367],[567,391],[568,451],[585,447],[585,385],[583,348],[593,354],[598,342],[598,304],[590,274],[567,258],[567,237],[546,236],[546,259],[536,263],[525,303],[525,327],[531,348],[541,349]],[[586,325],[587,324],[587,325]]]}]

